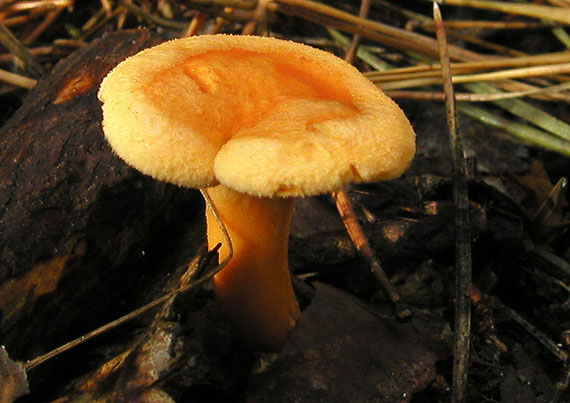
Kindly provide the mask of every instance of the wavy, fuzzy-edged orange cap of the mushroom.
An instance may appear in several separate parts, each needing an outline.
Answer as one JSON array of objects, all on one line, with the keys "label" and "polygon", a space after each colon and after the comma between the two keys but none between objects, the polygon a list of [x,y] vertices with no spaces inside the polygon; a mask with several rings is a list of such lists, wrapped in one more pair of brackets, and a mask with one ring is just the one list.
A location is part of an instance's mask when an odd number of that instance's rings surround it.
[{"label": "wavy, fuzzy-edged orange cap of the mushroom", "polygon": [[356,68],[275,38],[163,43],[115,67],[99,99],[115,152],[186,187],[313,195],[396,177],[415,152],[404,113]]}]

